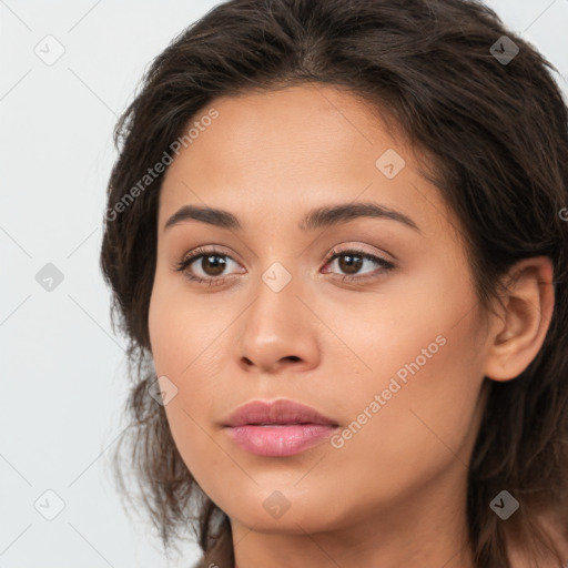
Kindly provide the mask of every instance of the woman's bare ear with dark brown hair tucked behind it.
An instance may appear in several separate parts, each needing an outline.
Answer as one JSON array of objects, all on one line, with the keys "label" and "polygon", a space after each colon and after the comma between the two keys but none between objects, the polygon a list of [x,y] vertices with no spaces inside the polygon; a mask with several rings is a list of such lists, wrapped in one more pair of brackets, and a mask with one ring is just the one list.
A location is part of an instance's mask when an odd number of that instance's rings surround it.
[{"label": "woman's bare ear with dark brown hair tucked behind it", "polygon": [[505,277],[507,293],[488,337],[485,376],[509,381],[523,373],[545,341],[555,305],[554,266],[548,256],[516,263]]}]

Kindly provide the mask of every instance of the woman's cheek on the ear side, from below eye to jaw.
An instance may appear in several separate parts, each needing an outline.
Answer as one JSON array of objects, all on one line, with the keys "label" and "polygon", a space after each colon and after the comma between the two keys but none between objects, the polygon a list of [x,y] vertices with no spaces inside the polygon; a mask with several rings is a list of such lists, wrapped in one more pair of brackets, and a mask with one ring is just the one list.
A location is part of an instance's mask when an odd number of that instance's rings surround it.
[{"label": "woman's cheek on the ear side, from below eye to jaw", "polygon": [[398,304],[389,296],[382,310],[367,311],[366,329],[373,333],[351,324],[357,337],[352,344],[371,372],[354,374],[344,365],[349,379],[337,400],[348,419],[331,440],[321,478],[341,470],[361,480],[344,489],[361,506],[408,494],[444,468],[468,462],[484,346],[475,295],[445,282],[445,288],[425,286]]}]

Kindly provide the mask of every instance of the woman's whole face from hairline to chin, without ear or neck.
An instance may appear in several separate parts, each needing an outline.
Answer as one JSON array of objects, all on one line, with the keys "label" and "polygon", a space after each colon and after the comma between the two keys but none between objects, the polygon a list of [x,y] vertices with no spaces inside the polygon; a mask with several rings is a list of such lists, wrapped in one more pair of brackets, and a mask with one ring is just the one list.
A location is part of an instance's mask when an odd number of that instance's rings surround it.
[{"label": "woman's whole face from hairline to chin, without ear or neck", "polygon": [[[234,526],[265,532],[459,515],[488,346],[454,216],[351,94],[211,106],[163,182],[149,316],[187,468]],[[202,213],[166,227],[187,206]],[[226,426],[276,399],[329,422]]]}]

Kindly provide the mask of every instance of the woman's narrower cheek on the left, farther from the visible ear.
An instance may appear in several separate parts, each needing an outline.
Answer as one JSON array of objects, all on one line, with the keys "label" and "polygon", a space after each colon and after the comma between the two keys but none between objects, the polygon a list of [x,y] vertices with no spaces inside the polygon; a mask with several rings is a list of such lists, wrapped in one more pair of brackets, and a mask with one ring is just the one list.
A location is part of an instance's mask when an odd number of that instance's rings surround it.
[{"label": "woman's narrower cheek on the left, farther from the visible ear", "polygon": [[215,315],[214,304],[205,296],[189,302],[183,284],[156,275],[149,332],[156,375],[166,376],[170,392],[175,393],[164,406],[172,437],[185,465],[201,481],[211,477],[215,467],[222,465],[226,470],[227,466],[205,432],[219,414],[220,393],[226,393],[226,385],[220,384],[220,364],[226,361],[230,344],[222,335],[222,314]]}]

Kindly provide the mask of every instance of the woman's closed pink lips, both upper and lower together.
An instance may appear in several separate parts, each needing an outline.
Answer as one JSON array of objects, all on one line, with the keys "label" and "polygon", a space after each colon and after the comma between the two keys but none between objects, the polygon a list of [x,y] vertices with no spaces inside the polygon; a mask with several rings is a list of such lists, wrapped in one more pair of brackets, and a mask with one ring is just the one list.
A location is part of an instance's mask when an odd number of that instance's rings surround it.
[{"label": "woman's closed pink lips, both upper and lower together", "polygon": [[240,406],[223,426],[232,440],[246,452],[284,457],[322,443],[338,424],[310,406],[281,398]]}]

